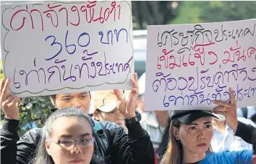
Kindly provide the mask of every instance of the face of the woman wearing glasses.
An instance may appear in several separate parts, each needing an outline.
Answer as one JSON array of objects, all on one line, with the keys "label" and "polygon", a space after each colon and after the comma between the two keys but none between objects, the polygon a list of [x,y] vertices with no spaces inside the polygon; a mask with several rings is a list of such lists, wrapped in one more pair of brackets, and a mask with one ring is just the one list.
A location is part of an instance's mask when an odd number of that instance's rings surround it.
[{"label": "face of the woman wearing glasses", "polygon": [[[93,156],[93,135],[89,122],[82,117],[60,117],[52,124],[46,150],[55,164],[89,164]],[[56,141],[60,140],[60,142]],[[80,140],[81,142],[69,142]]]}]

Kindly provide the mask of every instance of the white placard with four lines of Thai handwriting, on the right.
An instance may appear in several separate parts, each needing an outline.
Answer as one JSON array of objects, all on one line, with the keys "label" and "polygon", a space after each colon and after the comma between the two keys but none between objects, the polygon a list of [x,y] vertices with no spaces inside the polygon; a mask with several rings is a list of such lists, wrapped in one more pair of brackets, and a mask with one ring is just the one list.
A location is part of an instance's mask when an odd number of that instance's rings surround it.
[{"label": "white placard with four lines of Thai handwriting, on the right", "polygon": [[256,19],[148,27],[145,110],[256,105]]}]

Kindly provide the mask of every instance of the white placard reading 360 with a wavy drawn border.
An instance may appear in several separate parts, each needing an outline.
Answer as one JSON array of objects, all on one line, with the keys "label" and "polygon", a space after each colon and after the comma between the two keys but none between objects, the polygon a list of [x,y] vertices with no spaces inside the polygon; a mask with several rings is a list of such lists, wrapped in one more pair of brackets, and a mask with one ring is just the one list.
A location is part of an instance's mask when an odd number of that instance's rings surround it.
[{"label": "white placard reading 360 with a wavy drawn border", "polygon": [[1,5],[1,54],[20,97],[131,88],[131,2]]}]

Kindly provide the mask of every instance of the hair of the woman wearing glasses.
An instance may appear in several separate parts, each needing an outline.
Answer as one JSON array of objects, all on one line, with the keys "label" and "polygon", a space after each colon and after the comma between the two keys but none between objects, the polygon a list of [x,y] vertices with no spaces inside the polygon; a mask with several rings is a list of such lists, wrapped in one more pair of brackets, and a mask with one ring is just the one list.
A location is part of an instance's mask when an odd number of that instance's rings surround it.
[{"label": "hair of the woman wearing glasses", "polygon": [[90,127],[93,131],[93,123],[91,122],[90,117],[88,116],[88,114],[85,113],[85,111],[82,111],[81,109],[78,109],[75,107],[68,107],[65,109],[56,110],[47,119],[46,125],[45,127],[43,127],[43,128],[46,128],[46,135],[41,138],[38,149],[36,150],[36,153],[35,153],[35,158],[30,162],[30,164],[54,164],[54,160],[51,158],[50,155],[48,155],[46,151],[45,142],[47,137],[51,136],[52,125],[54,121],[61,117],[82,117],[86,119],[87,122],[89,122]]}]

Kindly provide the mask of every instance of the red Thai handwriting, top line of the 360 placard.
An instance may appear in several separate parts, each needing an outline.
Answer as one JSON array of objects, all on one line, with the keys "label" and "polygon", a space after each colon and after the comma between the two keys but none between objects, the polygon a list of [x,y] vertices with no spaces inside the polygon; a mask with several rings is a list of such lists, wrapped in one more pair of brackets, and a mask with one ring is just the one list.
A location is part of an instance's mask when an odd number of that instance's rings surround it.
[{"label": "red Thai handwriting, top line of the 360 placard", "polygon": [[[100,6],[104,3],[109,2],[88,1],[88,4],[86,4],[86,2],[85,4],[74,4],[68,8],[68,6],[64,5],[64,3],[57,2],[55,4],[47,4],[46,9],[44,10],[41,5],[40,8],[37,8],[38,5],[36,5],[31,7],[32,9],[29,9],[29,6],[26,5],[25,9],[19,9],[17,12],[12,14],[9,26],[12,30],[18,31],[25,27],[25,23],[27,23],[31,24],[32,29],[35,29],[34,19],[38,19],[39,14],[42,31],[44,29],[45,22],[48,21],[51,21],[53,27],[59,27],[59,16],[63,16],[63,14],[61,14],[63,12],[65,14],[66,26],[69,26],[69,24],[72,26],[79,26],[81,22],[100,22],[103,24],[109,20],[114,22],[119,20],[121,17],[121,5],[117,5],[116,1],[112,1],[109,3],[109,6]],[[99,10],[99,12],[97,10]],[[71,13],[76,14],[77,19],[74,19],[73,17],[72,20],[69,19]],[[95,13],[97,13],[97,15]],[[19,20],[20,17],[22,17],[22,21]]]}]

